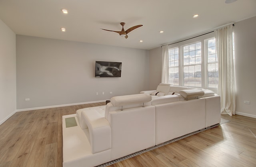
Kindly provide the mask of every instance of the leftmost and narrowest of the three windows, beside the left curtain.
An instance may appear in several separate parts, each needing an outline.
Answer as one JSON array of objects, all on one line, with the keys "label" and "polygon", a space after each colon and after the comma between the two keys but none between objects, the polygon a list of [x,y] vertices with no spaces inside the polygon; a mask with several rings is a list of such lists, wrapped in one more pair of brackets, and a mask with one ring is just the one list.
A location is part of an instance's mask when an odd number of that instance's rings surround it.
[{"label": "leftmost and narrowest of the three windows, beside the left curtain", "polygon": [[169,83],[179,85],[179,49],[169,49]]}]

